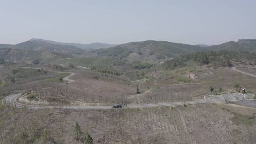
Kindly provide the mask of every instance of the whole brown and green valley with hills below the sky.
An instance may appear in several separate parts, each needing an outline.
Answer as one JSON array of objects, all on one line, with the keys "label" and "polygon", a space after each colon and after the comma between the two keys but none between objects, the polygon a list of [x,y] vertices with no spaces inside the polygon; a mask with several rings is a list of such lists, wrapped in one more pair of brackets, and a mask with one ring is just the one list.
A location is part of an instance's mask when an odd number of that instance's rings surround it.
[{"label": "whole brown and green valley with hills below the sky", "polygon": [[255,141],[255,108],[231,104],[255,101],[253,51],[163,41],[76,51],[46,42],[0,49],[3,144],[80,144],[76,122],[94,144]]}]

